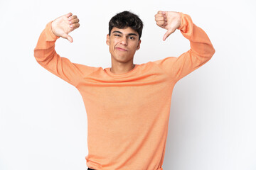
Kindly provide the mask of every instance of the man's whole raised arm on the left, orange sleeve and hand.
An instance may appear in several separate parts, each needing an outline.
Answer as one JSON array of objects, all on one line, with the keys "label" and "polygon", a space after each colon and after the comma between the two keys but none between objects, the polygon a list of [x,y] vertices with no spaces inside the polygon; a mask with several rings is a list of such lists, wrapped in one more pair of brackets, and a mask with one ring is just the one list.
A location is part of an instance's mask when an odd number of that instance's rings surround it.
[{"label": "man's whole raised arm on the left, orange sleeve and hand", "polygon": [[54,21],[51,21],[41,33],[34,49],[36,61],[42,67],[73,86],[78,85],[82,77],[82,72],[85,72],[91,67],[75,64],[70,62],[68,58],[60,57],[55,52],[55,41],[62,37],[73,42],[73,38],[68,33],[79,27],[78,22],[77,16],[73,16],[72,13],[60,16]]}]

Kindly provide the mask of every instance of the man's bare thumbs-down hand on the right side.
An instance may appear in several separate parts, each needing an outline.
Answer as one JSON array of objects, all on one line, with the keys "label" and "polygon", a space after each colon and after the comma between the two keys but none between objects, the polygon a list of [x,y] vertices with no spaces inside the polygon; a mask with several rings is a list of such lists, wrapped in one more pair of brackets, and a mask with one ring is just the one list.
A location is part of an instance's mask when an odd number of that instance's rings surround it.
[{"label": "man's bare thumbs-down hand on the right side", "polygon": [[166,40],[171,33],[174,33],[181,26],[181,16],[178,12],[158,11],[155,15],[155,21],[157,26],[167,30],[163,40]]}]

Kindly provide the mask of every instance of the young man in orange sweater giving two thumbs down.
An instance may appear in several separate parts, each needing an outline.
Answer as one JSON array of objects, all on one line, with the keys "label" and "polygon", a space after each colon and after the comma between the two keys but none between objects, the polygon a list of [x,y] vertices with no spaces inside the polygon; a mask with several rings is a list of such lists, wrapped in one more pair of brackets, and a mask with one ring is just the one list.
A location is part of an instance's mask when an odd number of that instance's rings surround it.
[{"label": "young man in orange sweater giving two thumbs down", "polygon": [[47,24],[34,50],[36,61],[80,91],[87,113],[85,157],[89,169],[161,170],[168,133],[171,94],[176,82],[208,62],[215,53],[206,33],[191,17],[159,11],[156,25],[176,29],[190,41],[191,49],[179,57],[134,64],[143,23],[133,13],[117,13],[110,20],[107,45],[112,67],[75,64],[55,52],[55,41],[79,27],[72,13]]}]

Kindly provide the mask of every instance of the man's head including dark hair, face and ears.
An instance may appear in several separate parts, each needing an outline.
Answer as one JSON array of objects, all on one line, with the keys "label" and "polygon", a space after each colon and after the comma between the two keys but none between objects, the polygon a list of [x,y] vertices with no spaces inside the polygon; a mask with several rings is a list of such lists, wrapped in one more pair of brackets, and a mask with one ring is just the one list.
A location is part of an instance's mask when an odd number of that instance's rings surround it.
[{"label": "man's head including dark hair, face and ears", "polygon": [[113,63],[131,63],[140,48],[143,23],[134,13],[123,11],[113,16],[109,23],[107,45]]}]

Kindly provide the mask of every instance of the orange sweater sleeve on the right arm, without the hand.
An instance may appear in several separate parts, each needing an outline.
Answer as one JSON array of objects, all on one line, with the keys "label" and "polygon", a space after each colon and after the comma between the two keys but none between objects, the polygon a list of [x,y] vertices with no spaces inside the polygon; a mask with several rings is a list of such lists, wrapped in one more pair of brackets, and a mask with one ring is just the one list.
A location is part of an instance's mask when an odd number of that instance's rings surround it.
[{"label": "orange sweater sleeve on the right arm, without the hand", "polygon": [[183,13],[180,13],[180,15],[181,26],[178,30],[190,41],[191,49],[179,57],[166,57],[163,60],[156,61],[156,64],[159,64],[174,81],[178,81],[201,67],[215,53],[208,35],[192,22],[190,16]]}]

